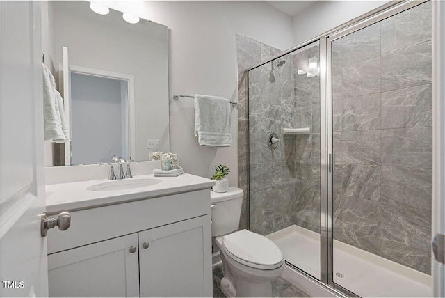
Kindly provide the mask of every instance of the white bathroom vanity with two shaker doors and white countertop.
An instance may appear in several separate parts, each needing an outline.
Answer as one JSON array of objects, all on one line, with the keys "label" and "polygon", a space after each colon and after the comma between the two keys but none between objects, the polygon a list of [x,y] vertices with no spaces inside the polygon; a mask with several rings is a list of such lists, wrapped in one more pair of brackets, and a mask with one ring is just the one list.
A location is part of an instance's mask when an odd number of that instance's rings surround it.
[{"label": "white bathroom vanity with two shaker doors and white countertop", "polygon": [[[124,185],[137,180],[148,186]],[[69,229],[48,231],[49,296],[211,297],[215,182],[190,174],[127,181],[47,185],[48,217],[71,214]]]}]

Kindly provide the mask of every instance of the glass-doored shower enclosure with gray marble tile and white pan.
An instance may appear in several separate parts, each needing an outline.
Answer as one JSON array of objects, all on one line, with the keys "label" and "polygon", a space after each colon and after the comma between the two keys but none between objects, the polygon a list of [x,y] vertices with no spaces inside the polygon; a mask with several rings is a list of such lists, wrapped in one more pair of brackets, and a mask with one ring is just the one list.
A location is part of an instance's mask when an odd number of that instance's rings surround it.
[{"label": "glass-doored shower enclosure with gray marble tile and white pan", "polygon": [[250,230],[347,295],[429,297],[431,3],[248,70]]}]

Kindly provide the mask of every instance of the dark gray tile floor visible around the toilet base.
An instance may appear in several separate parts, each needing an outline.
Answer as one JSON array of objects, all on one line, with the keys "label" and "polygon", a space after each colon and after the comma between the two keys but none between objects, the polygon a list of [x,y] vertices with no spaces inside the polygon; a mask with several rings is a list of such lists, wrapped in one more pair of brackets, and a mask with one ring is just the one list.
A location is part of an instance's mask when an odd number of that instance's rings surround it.
[{"label": "dark gray tile floor visible around the toilet base", "polygon": [[[213,297],[225,298],[223,291],[221,290],[221,279],[224,277],[223,265],[213,267]],[[272,283],[272,296],[273,297],[310,297],[305,292],[296,288],[285,279],[277,279]]]}]

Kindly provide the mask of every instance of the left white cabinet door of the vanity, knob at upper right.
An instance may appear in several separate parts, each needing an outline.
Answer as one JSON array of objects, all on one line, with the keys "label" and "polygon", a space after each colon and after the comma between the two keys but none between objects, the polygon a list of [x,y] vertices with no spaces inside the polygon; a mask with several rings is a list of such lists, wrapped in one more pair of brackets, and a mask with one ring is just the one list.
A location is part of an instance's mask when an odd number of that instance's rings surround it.
[{"label": "left white cabinet door of the vanity, knob at upper right", "polygon": [[49,297],[139,297],[137,249],[133,233],[49,255]]}]

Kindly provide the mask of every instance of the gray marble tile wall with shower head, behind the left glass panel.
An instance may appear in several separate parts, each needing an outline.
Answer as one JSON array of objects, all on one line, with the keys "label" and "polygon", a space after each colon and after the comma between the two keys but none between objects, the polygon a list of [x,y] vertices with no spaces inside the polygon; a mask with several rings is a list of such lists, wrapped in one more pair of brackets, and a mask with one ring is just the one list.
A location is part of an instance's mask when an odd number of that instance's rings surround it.
[{"label": "gray marble tile wall with shower head, behind the left glass panel", "polygon": [[[262,235],[292,224],[319,231],[320,80],[296,72],[296,66],[307,69],[308,59],[318,57],[318,52],[316,45],[250,71],[249,113],[243,108],[241,115],[245,118],[238,119],[239,166],[247,167],[249,141],[250,206],[245,207],[250,207],[250,230]],[[238,36],[238,66],[242,65],[238,67],[238,102],[245,102],[244,69],[254,64],[255,57],[262,61],[279,53],[278,49]],[[278,66],[282,61],[286,63]],[[283,127],[310,127],[313,133],[284,136]],[[272,132],[281,140],[276,149],[269,148],[267,143]],[[240,171],[239,182],[247,189],[244,173],[248,175],[247,171]]]}]

